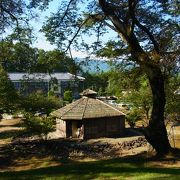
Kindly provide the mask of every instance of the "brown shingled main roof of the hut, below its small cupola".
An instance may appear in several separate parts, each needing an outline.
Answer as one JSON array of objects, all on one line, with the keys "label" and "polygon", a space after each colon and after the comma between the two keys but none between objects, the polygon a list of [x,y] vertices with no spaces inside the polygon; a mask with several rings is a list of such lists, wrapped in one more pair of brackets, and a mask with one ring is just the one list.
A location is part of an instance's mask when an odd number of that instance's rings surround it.
[{"label": "brown shingled main roof of the hut, below its small cupola", "polygon": [[99,99],[83,96],[81,99],[52,112],[51,115],[61,118],[62,120],[83,120],[115,117],[124,114],[115,107]]}]

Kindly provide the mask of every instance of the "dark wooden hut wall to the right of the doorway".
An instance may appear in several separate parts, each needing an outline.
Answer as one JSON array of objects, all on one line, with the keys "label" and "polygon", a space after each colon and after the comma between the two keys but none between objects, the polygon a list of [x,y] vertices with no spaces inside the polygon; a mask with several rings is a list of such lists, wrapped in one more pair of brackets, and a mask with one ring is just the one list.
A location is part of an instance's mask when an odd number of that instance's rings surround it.
[{"label": "dark wooden hut wall to the right of the doorway", "polygon": [[125,116],[84,120],[84,139],[119,137],[125,129]]}]

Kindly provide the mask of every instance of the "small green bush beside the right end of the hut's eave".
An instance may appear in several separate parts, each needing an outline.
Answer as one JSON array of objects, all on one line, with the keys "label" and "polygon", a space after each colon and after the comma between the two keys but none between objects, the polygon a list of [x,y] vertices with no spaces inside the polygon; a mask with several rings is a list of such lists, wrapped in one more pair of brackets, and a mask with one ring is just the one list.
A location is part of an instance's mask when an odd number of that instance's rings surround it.
[{"label": "small green bush beside the right end of the hut's eave", "polygon": [[141,120],[141,118],[142,118],[141,111],[136,108],[131,109],[130,112],[126,115],[126,120],[131,128],[134,128],[136,122],[138,120]]}]

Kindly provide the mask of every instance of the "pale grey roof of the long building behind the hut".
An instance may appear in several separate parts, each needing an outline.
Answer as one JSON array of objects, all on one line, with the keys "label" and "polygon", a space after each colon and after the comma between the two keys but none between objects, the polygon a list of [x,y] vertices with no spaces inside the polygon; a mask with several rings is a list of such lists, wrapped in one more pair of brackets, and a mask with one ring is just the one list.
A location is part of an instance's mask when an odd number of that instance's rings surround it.
[{"label": "pale grey roof of the long building behind the hut", "polygon": [[52,73],[52,74],[48,74],[48,73],[8,73],[9,74],[9,78],[11,81],[20,81],[20,80],[24,80],[24,79],[30,79],[30,80],[50,80],[51,78],[56,78],[57,80],[74,80],[74,79],[78,79],[78,80],[84,80],[84,77],[81,76],[75,76],[71,73]]}]

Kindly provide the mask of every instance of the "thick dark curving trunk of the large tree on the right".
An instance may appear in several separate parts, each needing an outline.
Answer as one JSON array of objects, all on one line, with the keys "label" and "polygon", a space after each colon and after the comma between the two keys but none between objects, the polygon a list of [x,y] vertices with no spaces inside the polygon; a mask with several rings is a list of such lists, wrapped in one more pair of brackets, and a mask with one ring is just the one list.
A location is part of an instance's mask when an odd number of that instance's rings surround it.
[{"label": "thick dark curving trunk of the large tree on the right", "polygon": [[164,77],[160,65],[154,62],[148,54],[144,52],[133,33],[129,36],[128,44],[132,57],[147,74],[152,90],[153,109],[149,125],[145,129],[144,135],[156,150],[157,155],[163,156],[171,150],[164,123],[164,108],[166,103]]}]

